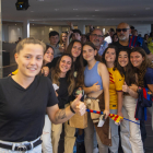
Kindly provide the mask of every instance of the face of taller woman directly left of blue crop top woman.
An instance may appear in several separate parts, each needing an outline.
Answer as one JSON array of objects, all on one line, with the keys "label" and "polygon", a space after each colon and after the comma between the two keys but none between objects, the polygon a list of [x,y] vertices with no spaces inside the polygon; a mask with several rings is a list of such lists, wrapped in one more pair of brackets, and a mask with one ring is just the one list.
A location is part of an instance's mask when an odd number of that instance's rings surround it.
[{"label": "face of taller woman directly left of blue crop top woman", "polygon": [[81,49],[82,49],[81,43],[75,42],[75,43],[73,44],[72,49],[71,49],[71,55],[72,55],[72,57],[73,57],[74,59],[76,59],[76,58],[80,56]]}]

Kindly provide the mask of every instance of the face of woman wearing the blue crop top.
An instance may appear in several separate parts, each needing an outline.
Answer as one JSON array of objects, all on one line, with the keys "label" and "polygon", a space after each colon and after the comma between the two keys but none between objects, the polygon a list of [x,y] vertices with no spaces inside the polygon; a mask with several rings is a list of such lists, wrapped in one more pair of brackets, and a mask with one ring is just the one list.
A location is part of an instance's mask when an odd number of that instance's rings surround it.
[{"label": "face of woman wearing the blue crop top", "polygon": [[97,51],[94,50],[94,48],[92,48],[91,46],[89,46],[89,45],[83,46],[83,58],[86,61],[93,60],[96,56],[96,52]]}]

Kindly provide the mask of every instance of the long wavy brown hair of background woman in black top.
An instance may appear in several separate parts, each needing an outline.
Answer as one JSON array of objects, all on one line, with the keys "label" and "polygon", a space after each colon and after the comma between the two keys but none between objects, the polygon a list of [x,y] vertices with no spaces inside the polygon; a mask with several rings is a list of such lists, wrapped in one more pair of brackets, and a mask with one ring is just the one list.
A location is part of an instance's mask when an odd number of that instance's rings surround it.
[{"label": "long wavy brown hair of background woman in black top", "polygon": [[71,64],[71,70],[69,70],[66,74],[66,78],[67,78],[67,82],[69,84],[69,87],[68,87],[68,93],[69,95],[72,94],[73,90],[74,90],[74,86],[75,86],[75,82],[74,82],[74,66],[73,66],[73,58],[71,55],[69,54],[63,54],[57,61],[56,63],[56,67],[54,69],[51,69],[51,81],[52,83],[56,83],[58,86],[59,86],[59,73],[60,73],[60,69],[59,69],[59,62],[61,61],[61,58],[64,57],[64,56],[68,56],[71,58],[72,60],[72,64]]}]

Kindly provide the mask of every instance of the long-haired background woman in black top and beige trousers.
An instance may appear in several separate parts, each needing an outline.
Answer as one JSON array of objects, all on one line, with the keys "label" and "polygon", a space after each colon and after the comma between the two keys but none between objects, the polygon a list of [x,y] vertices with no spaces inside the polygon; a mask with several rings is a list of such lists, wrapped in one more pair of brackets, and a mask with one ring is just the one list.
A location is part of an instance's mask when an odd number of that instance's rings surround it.
[{"label": "long-haired background woman in black top and beige trousers", "polygon": [[[64,108],[64,104],[68,103],[69,95],[74,90],[74,76],[73,76],[73,59],[70,55],[62,55],[55,69],[51,71],[51,81],[57,86],[56,95],[58,97],[59,108]],[[52,153],[58,153],[58,142],[62,132],[62,123],[51,123],[51,142]]]}]

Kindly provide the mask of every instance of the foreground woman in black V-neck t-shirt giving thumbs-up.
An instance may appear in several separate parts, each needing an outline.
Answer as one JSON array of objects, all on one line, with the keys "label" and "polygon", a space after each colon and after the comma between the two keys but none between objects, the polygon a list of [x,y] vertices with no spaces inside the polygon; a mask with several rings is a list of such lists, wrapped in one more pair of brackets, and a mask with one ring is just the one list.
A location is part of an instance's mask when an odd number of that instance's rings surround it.
[{"label": "foreground woman in black V-neck t-shirt giving thumbs-up", "polygon": [[37,75],[42,69],[45,45],[25,38],[16,46],[19,72],[0,80],[0,152],[42,153],[44,116],[54,123],[66,122],[74,113],[83,115],[85,106],[78,96],[66,109],[58,101],[48,78]]}]

